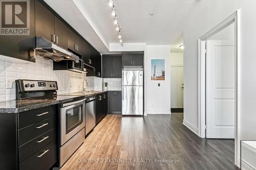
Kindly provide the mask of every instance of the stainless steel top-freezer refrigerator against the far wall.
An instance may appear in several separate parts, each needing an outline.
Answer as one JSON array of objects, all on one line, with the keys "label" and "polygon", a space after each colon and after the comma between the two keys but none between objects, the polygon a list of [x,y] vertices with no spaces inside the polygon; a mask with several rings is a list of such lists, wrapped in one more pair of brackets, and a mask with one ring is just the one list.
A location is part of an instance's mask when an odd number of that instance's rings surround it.
[{"label": "stainless steel top-freezer refrigerator against the far wall", "polygon": [[122,70],[122,115],[143,115],[143,69]]}]

